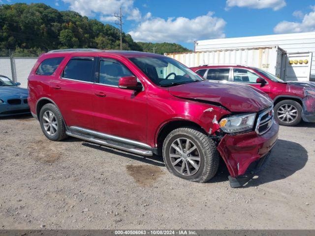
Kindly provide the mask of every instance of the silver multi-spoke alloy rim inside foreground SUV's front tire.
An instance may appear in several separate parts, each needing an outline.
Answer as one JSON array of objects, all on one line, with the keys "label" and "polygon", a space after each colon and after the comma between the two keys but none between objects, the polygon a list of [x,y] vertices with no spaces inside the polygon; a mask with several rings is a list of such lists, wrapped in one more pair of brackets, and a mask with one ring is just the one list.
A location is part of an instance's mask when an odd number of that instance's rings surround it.
[{"label": "silver multi-spoke alloy rim inside foreground SUV's front tire", "polygon": [[181,175],[192,176],[200,168],[199,150],[190,139],[176,139],[170,147],[169,157],[174,169]]}]

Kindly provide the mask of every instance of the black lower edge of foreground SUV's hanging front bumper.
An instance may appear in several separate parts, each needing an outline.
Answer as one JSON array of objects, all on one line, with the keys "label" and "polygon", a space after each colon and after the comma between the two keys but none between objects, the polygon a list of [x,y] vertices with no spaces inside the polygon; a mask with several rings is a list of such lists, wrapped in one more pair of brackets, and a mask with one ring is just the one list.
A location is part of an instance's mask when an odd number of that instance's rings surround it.
[{"label": "black lower edge of foreground SUV's hanging front bumper", "polygon": [[242,187],[244,184],[249,182],[252,177],[254,177],[256,174],[258,174],[260,171],[262,171],[268,161],[270,160],[270,152],[268,152],[265,156],[261,157],[257,163],[255,163],[255,168],[252,170],[248,170],[248,174],[244,174],[238,177],[231,177],[228,176],[228,180],[230,181],[230,185],[232,188],[239,188]]}]

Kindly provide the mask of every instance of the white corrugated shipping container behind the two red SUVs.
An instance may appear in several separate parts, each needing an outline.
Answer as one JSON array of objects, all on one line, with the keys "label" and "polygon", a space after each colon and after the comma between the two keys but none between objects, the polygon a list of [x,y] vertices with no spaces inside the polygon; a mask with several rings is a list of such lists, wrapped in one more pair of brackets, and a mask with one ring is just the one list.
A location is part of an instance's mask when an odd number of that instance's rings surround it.
[{"label": "white corrugated shipping container behind the two red SUVs", "polygon": [[261,68],[279,78],[284,78],[285,74],[286,53],[278,46],[173,53],[165,56],[176,59],[188,67],[244,64]]}]

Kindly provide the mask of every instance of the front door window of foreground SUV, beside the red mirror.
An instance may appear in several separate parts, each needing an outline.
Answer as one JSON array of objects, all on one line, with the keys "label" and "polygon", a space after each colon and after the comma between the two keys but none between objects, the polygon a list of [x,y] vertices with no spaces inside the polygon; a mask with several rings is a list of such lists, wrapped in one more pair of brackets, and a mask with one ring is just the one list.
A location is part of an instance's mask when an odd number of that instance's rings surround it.
[{"label": "front door window of foreground SUV, beside the red mirror", "polygon": [[99,83],[118,86],[121,77],[133,76],[130,70],[115,59],[101,59],[99,65]]}]

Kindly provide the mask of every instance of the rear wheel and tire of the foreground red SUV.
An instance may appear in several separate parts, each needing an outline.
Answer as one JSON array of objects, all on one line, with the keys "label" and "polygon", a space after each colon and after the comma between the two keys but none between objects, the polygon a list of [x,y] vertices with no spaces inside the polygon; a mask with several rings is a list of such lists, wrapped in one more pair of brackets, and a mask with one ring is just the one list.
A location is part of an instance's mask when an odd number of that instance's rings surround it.
[{"label": "rear wheel and tire of the foreground red SUV", "polygon": [[[51,114],[52,116],[50,117]],[[52,118],[51,121],[50,118]],[[57,106],[54,104],[48,103],[41,108],[39,113],[39,123],[41,130],[48,139],[52,141],[62,141],[67,138],[63,117]]]}]

